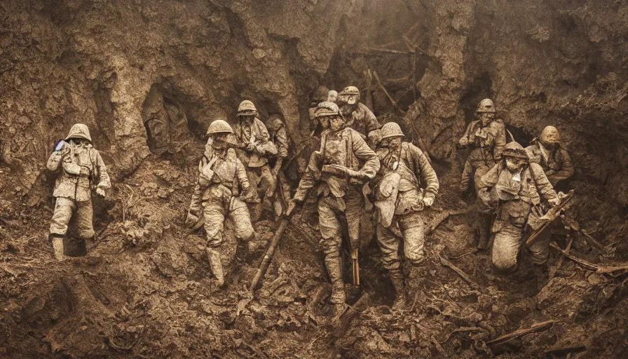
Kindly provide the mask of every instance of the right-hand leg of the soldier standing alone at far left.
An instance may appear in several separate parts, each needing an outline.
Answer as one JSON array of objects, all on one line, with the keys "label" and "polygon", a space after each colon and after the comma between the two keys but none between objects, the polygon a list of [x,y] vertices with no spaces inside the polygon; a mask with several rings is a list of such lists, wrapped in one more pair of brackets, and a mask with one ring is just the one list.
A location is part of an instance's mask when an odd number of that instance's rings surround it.
[{"label": "right-hand leg of the soldier standing alone at far left", "polygon": [[65,249],[65,255],[70,257],[83,257],[87,255],[86,241],[93,239],[94,232],[94,214],[91,199],[89,201],[76,202],[76,210],[74,216],[70,220],[72,236],[66,238],[68,245]]}]

